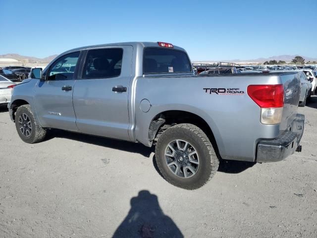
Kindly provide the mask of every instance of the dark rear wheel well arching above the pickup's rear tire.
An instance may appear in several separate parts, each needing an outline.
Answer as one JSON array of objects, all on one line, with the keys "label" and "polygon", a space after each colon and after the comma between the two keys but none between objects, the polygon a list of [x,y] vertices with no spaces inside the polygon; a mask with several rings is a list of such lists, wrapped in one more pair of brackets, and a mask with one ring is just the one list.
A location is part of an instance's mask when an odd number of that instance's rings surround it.
[{"label": "dark rear wheel well arching above the pickup's rear tire", "polygon": [[156,141],[160,134],[163,133],[168,127],[180,123],[190,123],[201,128],[208,138],[210,139],[214,150],[218,153],[217,143],[213,136],[212,130],[208,123],[197,116],[196,114],[185,112],[185,111],[165,111],[158,114],[150,124],[149,128],[149,139],[150,141]]}]

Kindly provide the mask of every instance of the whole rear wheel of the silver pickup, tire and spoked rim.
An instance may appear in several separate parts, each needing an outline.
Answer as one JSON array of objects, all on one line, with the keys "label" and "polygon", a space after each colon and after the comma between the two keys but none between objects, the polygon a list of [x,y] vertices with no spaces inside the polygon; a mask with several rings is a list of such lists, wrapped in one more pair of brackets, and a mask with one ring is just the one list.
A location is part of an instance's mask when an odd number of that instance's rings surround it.
[{"label": "whole rear wheel of the silver pickup, tire and spoked rim", "polygon": [[197,189],[208,182],[219,165],[204,131],[187,123],[166,129],[159,136],[155,155],[164,179],[189,190]]}]

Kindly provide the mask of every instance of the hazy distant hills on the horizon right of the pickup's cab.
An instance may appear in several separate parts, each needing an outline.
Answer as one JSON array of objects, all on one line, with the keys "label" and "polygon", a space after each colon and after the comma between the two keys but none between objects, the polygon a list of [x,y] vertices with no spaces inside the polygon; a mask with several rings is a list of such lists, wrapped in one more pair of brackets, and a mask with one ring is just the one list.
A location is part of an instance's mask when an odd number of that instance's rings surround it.
[{"label": "hazy distant hills on the horizon right of the pickup's cab", "polygon": [[[295,56],[299,56],[299,55],[295,55]],[[258,58],[255,60],[204,60],[204,61],[199,61],[199,60],[195,60],[194,62],[202,62],[202,63],[210,63],[210,62],[234,62],[234,63],[264,63],[265,61],[269,61],[269,60],[283,60],[285,62],[291,62],[295,56],[290,56],[290,55],[283,55],[283,56],[272,56],[272,57],[268,57],[268,58]],[[305,61],[317,61],[317,58],[312,58],[312,57],[305,57],[302,56]]]}]

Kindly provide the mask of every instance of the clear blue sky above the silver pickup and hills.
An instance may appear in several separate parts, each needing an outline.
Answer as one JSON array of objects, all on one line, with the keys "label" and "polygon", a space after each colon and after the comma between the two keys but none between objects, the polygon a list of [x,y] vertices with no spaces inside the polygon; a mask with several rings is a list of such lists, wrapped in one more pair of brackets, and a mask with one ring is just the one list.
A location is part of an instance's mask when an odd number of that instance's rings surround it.
[{"label": "clear blue sky above the silver pickup and hills", "polygon": [[163,41],[192,60],[317,57],[317,0],[0,0],[0,9],[0,54]]}]

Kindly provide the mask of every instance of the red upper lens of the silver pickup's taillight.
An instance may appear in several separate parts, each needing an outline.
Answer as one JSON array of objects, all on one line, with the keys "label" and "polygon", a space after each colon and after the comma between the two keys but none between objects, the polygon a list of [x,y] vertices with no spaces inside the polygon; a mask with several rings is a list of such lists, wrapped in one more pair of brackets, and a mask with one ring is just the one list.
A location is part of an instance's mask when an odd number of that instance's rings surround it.
[{"label": "red upper lens of the silver pickup's taillight", "polygon": [[284,106],[283,84],[249,85],[248,95],[260,108],[282,108]]}]

